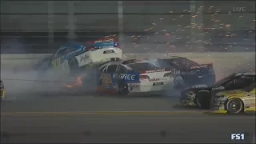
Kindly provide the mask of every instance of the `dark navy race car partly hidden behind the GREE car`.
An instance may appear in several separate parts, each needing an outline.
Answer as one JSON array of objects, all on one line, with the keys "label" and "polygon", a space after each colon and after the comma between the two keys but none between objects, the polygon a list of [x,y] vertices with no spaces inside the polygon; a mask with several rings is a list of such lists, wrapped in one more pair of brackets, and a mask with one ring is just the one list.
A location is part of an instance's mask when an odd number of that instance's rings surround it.
[{"label": "dark navy race car partly hidden behind the GREE car", "polygon": [[172,56],[171,58],[152,59],[161,68],[170,68],[174,71],[174,85],[187,87],[197,84],[210,86],[215,82],[213,64],[198,64],[188,58]]}]

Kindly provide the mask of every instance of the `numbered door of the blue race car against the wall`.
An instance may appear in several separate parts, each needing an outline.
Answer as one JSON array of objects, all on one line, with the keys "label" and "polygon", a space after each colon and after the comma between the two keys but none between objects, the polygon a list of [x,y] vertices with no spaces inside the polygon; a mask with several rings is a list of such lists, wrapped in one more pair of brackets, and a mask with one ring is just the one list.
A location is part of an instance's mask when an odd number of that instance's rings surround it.
[{"label": "numbered door of the blue race car against the wall", "polygon": [[58,68],[66,57],[66,48],[58,50],[56,54],[51,58],[50,65],[52,68]]}]

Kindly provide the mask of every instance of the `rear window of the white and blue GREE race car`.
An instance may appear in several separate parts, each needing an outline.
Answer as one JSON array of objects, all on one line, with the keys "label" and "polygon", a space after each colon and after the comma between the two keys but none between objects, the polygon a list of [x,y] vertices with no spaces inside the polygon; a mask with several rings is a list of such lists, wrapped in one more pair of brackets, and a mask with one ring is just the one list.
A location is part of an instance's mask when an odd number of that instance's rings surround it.
[{"label": "rear window of the white and blue GREE race car", "polygon": [[141,71],[141,70],[157,70],[158,69],[157,66],[154,66],[150,62],[131,63],[131,64],[128,64],[127,66],[129,66],[132,70],[136,70],[136,71]]}]

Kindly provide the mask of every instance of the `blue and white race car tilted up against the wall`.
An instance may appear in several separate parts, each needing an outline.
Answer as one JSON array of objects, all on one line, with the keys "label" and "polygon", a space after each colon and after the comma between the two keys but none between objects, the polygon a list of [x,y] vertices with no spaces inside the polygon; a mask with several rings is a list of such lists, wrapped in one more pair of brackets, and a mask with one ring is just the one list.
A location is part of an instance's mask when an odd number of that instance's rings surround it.
[{"label": "blue and white race car tilted up against the wall", "polygon": [[34,67],[36,70],[64,70],[70,74],[84,66],[110,58],[122,59],[122,50],[118,48],[118,42],[114,38],[87,42],[82,46],[62,46],[56,53],[46,56]]}]

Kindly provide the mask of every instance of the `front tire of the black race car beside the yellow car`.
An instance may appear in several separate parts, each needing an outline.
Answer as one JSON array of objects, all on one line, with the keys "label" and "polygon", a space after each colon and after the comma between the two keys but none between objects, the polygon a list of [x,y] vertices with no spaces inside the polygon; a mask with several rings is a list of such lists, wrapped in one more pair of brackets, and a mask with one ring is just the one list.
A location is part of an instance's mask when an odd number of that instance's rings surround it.
[{"label": "front tire of the black race car beside the yellow car", "polygon": [[194,103],[200,109],[210,109],[210,92],[199,92],[194,98]]}]

